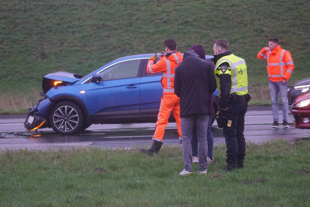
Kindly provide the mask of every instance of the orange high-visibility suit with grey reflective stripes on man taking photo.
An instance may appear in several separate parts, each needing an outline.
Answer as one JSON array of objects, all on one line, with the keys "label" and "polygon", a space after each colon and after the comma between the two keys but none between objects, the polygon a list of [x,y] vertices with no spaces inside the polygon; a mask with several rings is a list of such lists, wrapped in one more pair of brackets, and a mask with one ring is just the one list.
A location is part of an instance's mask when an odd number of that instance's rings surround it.
[{"label": "orange high-visibility suit with grey reflective stripes on man taking photo", "polygon": [[169,57],[162,56],[156,64],[154,64],[152,59],[148,60],[148,73],[162,72],[161,83],[163,95],[160,102],[159,113],[157,115],[156,129],[153,135],[153,140],[162,142],[171,111],[173,111],[173,115],[175,117],[179,137],[182,136],[179,103],[180,98],[175,95],[173,87],[175,68],[182,62],[182,60],[183,57],[180,52],[172,53]]}]

